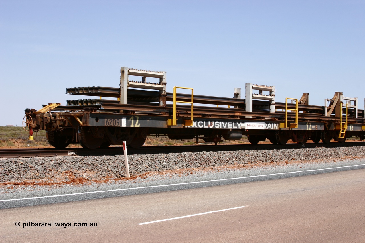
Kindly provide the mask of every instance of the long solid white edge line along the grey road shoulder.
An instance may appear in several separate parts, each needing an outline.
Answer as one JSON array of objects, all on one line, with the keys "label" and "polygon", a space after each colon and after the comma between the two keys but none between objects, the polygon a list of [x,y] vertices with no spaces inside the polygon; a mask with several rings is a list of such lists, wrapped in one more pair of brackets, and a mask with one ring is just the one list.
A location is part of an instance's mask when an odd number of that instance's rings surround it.
[{"label": "long solid white edge line along the grey road shoulder", "polygon": [[69,193],[69,194],[60,194],[60,195],[51,195],[51,196],[42,196],[42,197],[15,198],[15,199],[0,200],[0,202],[19,201],[19,200],[28,200],[28,199],[39,199],[39,198],[49,198],[49,197],[64,197],[64,196],[74,196],[74,195],[102,193],[102,192],[118,192],[118,191],[126,191],[126,190],[145,189],[145,188],[157,188],[157,187],[164,187],[164,186],[178,186],[178,185],[188,185],[188,184],[199,184],[199,183],[205,183],[205,182],[228,181],[228,180],[238,180],[238,179],[246,179],[246,178],[254,178],[254,177],[266,177],[266,176],[273,176],[273,175],[296,174],[296,173],[309,172],[309,171],[331,170],[331,169],[340,169],[340,168],[356,167],[356,166],[364,166],[364,165],[365,164],[362,164],[362,165],[348,165],[348,166],[340,166],[340,167],[332,167],[332,168],[324,168],[324,169],[300,170],[300,171],[292,171],[292,172],[285,172],[285,173],[275,173],[275,174],[267,174],[267,175],[251,175],[251,176],[236,177],[236,178],[226,178],[226,179],[218,179],[218,180],[210,180],[210,181],[184,182],[184,183],[176,183],[176,184],[168,184],[168,185],[142,186],[142,187],[113,189],[113,190],[94,191],[94,192],[78,192],[78,193]]}]

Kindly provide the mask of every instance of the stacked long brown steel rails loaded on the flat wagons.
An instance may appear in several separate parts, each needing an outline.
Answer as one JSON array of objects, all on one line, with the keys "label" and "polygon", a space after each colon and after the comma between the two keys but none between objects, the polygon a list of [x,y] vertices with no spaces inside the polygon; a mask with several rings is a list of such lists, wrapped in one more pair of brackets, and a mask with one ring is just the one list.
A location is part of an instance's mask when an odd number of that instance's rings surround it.
[{"label": "stacked long brown steel rails loaded on the flat wagons", "polygon": [[[120,97],[120,88],[111,87],[78,87],[78,88],[67,88],[66,94],[69,95],[83,95],[83,96],[99,96],[99,97]],[[78,110],[84,108],[95,108],[100,111],[115,111],[119,112],[123,110],[135,111],[135,112],[153,112],[153,113],[171,113],[172,104],[167,104],[166,107],[158,106],[158,95],[157,91],[150,90],[138,90],[128,89],[128,104],[120,104],[118,100],[108,99],[81,99],[81,100],[67,100],[67,106],[60,106],[57,110]],[[173,101],[173,93],[166,93],[166,101]],[[176,97],[179,101],[189,101],[191,95],[177,93]],[[227,97],[214,97],[214,96],[203,96],[194,95],[194,103],[196,104],[208,104],[217,105],[212,106],[194,106],[194,116],[213,116],[213,117],[232,117],[239,118],[241,116],[256,116],[256,117],[270,117],[272,119],[283,119],[285,116],[285,103],[275,103],[275,113],[269,113],[269,101],[254,100],[253,101],[253,112],[246,112],[245,110],[245,99],[227,98]],[[228,107],[218,107],[218,105],[224,105]],[[295,104],[287,104],[288,109],[294,109]],[[339,120],[339,117],[325,117],[324,107],[318,105],[307,105],[299,104],[299,120]],[[177,110],[181,114],[188,113],[190,108],[186,105],[177,105]],[[289,113],[289,116],[292,115]],[[352,114],[349,114],[352,115]],[[364,110],[358,110],[358,117],[364,117]],[[349,117],[349,121],[359,121]],[[362,121],[361,121],[362,122]]]}]

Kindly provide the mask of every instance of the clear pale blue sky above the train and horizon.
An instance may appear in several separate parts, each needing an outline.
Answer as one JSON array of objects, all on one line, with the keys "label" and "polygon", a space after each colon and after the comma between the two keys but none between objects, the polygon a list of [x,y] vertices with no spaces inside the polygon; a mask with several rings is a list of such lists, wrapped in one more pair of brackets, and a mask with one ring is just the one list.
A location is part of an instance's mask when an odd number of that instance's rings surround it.
[{"label": "clear pale blue sky above the train and horizon", "polygon": [[276,101],[336,91],[365,98],[364,1],[0,0],[0,126],[25,108],[118,87],[120,67],[166,71],[167,89],[233,97],[246,82]]}]

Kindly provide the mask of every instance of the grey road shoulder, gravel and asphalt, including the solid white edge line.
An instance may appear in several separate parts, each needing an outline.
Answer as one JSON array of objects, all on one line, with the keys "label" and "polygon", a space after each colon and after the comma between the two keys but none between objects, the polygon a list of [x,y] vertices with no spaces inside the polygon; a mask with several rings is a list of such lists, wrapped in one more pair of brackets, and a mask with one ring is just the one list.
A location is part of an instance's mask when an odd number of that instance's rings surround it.
[{"label": "grey road shoulder, gravel and asphalt, including the solid white edge line", "polygon": [[138,178],[107,184],[93,183],[83,186],[15,186],[14,190],[5,189],[7,186],[4,186],[3,192],[0,193],[0,209],[275,180],[361,168],[365,168],[363,159],[330,163],[293,163],[285,166],[254,167],[219,172],[207,171],[193,175],[188,172],[183,176],[173,174],[173,176],[157,176],[143,180]]}]

